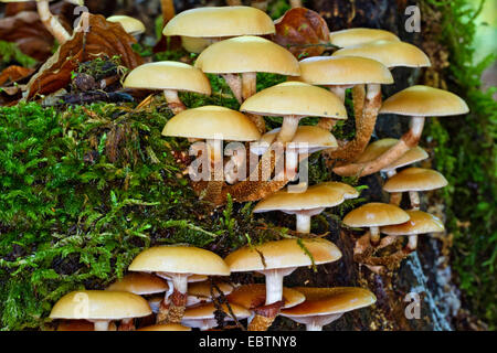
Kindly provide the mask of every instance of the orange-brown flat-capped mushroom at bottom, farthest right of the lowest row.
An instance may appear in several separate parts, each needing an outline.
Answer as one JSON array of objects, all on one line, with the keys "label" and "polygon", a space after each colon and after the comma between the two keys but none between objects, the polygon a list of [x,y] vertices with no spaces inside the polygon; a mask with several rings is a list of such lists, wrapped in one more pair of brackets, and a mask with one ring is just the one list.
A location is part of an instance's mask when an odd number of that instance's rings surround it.
[{"label": "orange-brown flat-capped mushroom at bottom, farthest right of the lowest row", "polygon": [[296,287],[306,301],[282,310],[281,315],[306,325],[307,331],[321,331],[343,313],[373,304],[377,298],[358,287],[308,288]]}]

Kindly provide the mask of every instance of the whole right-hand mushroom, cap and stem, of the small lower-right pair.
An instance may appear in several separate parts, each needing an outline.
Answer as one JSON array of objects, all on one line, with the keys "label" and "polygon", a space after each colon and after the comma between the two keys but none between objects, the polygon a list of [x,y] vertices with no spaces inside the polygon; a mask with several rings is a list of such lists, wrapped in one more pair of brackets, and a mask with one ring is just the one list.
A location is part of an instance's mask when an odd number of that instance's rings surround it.
[{"label": "whole right-hand mushroom, cap and stem, of the small lower-right pair", "polygon": [[384,247],[392,243],[387,238],[395,239],[400,236],[409,236],[408,246],[402,250],[405,255],[409,255],[417,247],[419,234],[440,233],[445,231],[442,221],[430,213],[417,210],[406,212],[410,216],[408,222],[381,227],[381,233],[387,234],[388,236],[382,239],[379,247]]}]

